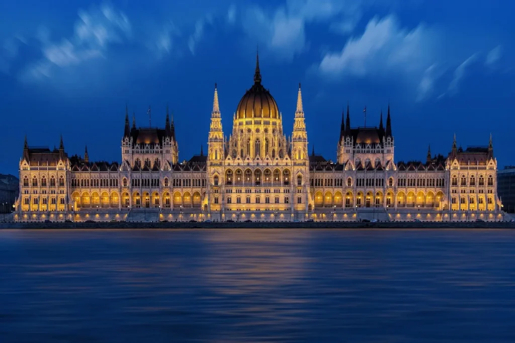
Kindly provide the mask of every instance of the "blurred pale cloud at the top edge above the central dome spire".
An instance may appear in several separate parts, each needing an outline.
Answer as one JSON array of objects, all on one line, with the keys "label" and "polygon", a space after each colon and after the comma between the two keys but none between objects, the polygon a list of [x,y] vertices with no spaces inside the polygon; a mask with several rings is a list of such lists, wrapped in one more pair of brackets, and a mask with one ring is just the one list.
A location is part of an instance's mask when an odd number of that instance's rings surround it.
[{"label": "blurred pale cloud at the top edge above the central dome spire", "polygon": [[353,18],[363,3],[347,0],[288,0],[285,6],[272,11],[253,6],[242,14],[243,30],[260,47],[290,60],[306,49],[307,24],[328,21],[338,14]]}]

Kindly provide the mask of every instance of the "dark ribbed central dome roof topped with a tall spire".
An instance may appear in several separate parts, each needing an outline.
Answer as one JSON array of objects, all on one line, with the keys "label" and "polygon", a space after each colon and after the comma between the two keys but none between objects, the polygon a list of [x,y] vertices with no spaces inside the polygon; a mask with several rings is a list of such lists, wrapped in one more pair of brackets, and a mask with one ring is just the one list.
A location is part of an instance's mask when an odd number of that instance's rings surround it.
[{"label": "dark ribbed central dome roof topped with a tall spire", "polygon": [[256,57],[256,71],[254,85],[245,93],[239,101],[236,110],[238,119],[244,118],[279,118],[279,109],[276,100],[270,92],[261,84],[261,72],[259,70],[259,56]]}]

